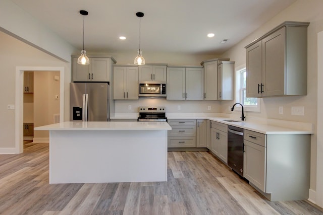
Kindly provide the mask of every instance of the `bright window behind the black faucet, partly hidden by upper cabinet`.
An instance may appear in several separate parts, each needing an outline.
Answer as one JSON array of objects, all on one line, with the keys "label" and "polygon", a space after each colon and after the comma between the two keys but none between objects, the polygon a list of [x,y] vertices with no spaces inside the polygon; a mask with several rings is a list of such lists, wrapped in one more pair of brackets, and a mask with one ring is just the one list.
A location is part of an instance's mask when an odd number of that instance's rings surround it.
[{"label": "bright window behind the black faucet, partly hidden by upper cabinet", "polygon": [[258,98],[249,98],[246,97],[246,67],[243,66],[240,69],[237,69],[237,102],[243,104],[246,111],[260,111],[260,101]]}]

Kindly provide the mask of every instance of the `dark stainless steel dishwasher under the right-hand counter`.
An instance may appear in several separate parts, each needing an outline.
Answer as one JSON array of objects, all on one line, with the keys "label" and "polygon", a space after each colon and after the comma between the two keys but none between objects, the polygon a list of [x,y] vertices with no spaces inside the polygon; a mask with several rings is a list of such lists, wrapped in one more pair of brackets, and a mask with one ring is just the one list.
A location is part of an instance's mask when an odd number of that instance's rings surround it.
[{"label": "dark stainless steel dishwasher under the right-hand counter", "polygon": [[243,128],[228,125],[228,166],[243,177]]}]

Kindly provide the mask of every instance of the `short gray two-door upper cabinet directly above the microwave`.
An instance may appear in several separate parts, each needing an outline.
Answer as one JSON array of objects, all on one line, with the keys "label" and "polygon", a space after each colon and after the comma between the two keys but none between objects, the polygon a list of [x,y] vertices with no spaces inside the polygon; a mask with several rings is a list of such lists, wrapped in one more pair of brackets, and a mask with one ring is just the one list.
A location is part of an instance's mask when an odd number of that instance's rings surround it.
[{"label": "short gray two-door upper cabinet directly above the microwave", "polygon": [[166,82],[167,65],[140,65],[139,81]]}]

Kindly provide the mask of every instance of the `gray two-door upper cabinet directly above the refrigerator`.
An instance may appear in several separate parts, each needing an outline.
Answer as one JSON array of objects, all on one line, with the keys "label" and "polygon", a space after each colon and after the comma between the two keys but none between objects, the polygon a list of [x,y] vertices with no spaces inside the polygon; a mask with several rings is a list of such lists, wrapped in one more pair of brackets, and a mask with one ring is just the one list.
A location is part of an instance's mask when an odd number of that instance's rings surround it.
[{"label": "gray two-door upper cabinet directly above the refrigerator", "polygon": [[77,63],[78,57],[73,57],[73,82],[110,82],[112,66],[116,60],[109,57],[91,57],[90,64]]}]

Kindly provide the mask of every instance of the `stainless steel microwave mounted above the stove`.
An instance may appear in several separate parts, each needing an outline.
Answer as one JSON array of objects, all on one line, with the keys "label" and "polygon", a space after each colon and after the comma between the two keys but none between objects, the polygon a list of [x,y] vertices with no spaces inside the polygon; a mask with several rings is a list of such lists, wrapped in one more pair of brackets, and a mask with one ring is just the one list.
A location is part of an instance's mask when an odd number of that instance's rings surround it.
[{"label": "stainless steel microwave mounted above the stove", "polygon": [[166,97],[166,82],[139,82],[139,97]]}]

